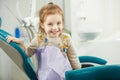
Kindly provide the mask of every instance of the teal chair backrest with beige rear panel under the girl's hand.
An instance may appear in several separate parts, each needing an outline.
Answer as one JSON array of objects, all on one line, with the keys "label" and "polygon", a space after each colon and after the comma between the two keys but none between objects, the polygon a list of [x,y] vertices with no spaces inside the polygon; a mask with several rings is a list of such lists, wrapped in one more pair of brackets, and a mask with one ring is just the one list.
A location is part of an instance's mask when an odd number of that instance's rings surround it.
[{"label": "teal chair backrest with beige rear panel under the girl's hand", "polygon": [[7,35],[11,34],[0,29],[0,47],[9,55],[9,57],[17,64],[17,66],[27,74],[30,80],[37,80],[36,71],[30,58],[21,49],[19,44],[15,42],[7,43]]}]

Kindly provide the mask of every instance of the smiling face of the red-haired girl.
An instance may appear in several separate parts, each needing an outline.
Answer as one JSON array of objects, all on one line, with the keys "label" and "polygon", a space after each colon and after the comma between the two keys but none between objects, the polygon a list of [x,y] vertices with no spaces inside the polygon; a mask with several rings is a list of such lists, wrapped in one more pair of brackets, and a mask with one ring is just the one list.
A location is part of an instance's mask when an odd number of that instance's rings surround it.
[{"label": "smiling face of the red-haired girl", "polygon": [[63,30],[62,15],[60,14],[48,15],[43,23],[42,28],[44,29],[47,37],[51,38],[59,37]]}]

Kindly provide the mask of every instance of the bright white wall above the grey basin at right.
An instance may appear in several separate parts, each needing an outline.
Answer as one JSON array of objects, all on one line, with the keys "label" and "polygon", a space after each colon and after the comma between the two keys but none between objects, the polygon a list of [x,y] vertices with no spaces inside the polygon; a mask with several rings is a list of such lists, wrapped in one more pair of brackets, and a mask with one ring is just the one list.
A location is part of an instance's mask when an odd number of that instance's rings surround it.
[{"label": "bright white wall above the grey basin at right", "polygon": [[76,31],[102,31],[99,39],[119,32],[119,3],[120,0],[71,0],[73,37],[77,35]]}]

